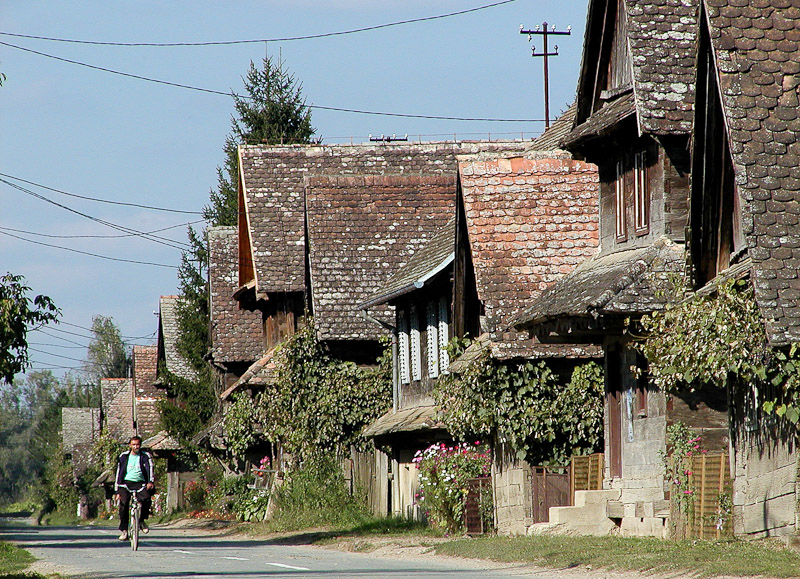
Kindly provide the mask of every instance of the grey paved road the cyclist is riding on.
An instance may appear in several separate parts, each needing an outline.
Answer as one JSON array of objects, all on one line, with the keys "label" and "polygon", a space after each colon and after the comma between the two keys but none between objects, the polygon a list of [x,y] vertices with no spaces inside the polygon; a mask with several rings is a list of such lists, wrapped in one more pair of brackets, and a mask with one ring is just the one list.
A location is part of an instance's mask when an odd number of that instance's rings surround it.
[{"label": "grey paved road the cyclist is riding on", "polygon": [[[486,569],[473,561],[433,557],[375,557],[310,546],[287,546],[241,536],[214,536],[186,529],[154,528],[139,551],[98,527],[34,527],[4,524],[0,539],[13,541],[46,563],[40,572],[92,579],[256,577],[477,578],[546,577],[522,567]],[[527,571],[527,572],[526,572]]]}]

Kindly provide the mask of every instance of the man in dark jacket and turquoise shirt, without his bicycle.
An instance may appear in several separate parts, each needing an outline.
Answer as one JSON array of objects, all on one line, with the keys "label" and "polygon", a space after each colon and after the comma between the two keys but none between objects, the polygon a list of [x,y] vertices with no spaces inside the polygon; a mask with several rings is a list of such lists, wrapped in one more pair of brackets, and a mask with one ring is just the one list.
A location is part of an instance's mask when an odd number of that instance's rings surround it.
[{"label": "man in dark jacket and turquoise shirt, without his bicycle", "polygon": [[128,515],[131,492],[139,491],[139,502],[142,503],[142,519],[140,530],[147,534],[147,517],[150,516],[151,496],[155,488],[153,477],[153,457],[142,450],[142,439],[132,436],[129,441],[130,450],[126,450],[117,460],[117,478],[114,490],[119,497],[119,530],[120,541],[128,540]]}]

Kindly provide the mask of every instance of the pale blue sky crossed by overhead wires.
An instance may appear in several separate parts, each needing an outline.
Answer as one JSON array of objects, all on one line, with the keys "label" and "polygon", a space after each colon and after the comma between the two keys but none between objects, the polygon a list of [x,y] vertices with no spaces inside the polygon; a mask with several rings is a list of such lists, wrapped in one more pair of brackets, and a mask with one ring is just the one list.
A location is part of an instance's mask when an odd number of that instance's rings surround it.
[{"label": "pale blue sky crossed by overhead wires", "polygon": [[[0,43],[5,43],[0,44],[0,72],[7,77],[0,87],[0,179],[61,205],[0,182],[0,275],[11,271],[25,276],[35,293],[49,295],[63,311],[64,323],[45,330],[49,335],[30,335],[33,368],[52,368],[62,375],[80,366],[89,342],[85,328],[96,314],[113,317],[130,343],[154,343],[153,312],[160,295],[177,293],[185,224],[199,218],[191,212],[201,210],[216,183],[233,113],[229,96],[65,61],[230,93],[242,92],[241,77],[249,62],[260,63],[268,53],[283,58],[302,83],[307,103],[316,107],[542,119],[542,59],[531,57],[531,44],[519,34],[519,25],[533,28],[547,21],[558,30],[572,26],[571,36],[550,39],[551,48],[559,45],[559,56],[550,60],[552,117],[574,99],[587,2],[514,0],[447,18],[266,43],[132,47],[15,35],[104,43],[263,40],[353,30],[492,3],[0,2]],[[533,44],[540,50],[541,38],[534,37]],[[452,121],[317,108],[312,109],[312,122],[324,143],[363,142],[370,134],[408,134],[424,141],[531,138],[544,126],[538,121]],[[98,220],[144,232],[171,228],[156,234],[171,241],[142,239]]]}]

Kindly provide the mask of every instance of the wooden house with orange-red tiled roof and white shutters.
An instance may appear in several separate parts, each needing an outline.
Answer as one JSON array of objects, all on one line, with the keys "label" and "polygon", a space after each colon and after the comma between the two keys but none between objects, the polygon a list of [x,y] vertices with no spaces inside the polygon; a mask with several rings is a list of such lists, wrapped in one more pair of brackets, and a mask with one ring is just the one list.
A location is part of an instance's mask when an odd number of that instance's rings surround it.
[{"label": "wooden house with orange-red tiled roof and white shutters", "polygon": [[[498,360],[549,358],[564,366],[599,356],[592,346],[536,343],[504,323],[596,247],[593,166],[530,143],[523,151],[459,157],[452,220],[361,304],[370,312],[384,303],[395,307],[394,406],[365,431],[392,448],[393,512],[419,516],[412,458],[449,440],[432,398],[435,380],[453,369],[449,338],[480,337],[456,366],[481,347],[491,348]],[[498,529],[524,532],[531,516],[530,469],[496,451]]]}]

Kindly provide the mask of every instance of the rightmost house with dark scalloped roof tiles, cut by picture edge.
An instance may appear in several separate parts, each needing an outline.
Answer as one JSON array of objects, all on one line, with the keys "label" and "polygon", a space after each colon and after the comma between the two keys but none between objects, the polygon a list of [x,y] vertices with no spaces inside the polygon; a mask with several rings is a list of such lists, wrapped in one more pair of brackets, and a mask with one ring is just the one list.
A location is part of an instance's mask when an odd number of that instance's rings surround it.
[{"label": "rightmost house with dark scalloped roof tiles, cut by picture edge", "polygon": [[[700,291],[749,275],[774,348],[800,340],[800,11],[765,0],[704,0],[699,18],[689,257]],[[735,383],[735,382],[734,382]],[[767,385],[730,393],[734,531],[798,530],[797,429],[762,404]]]}]

